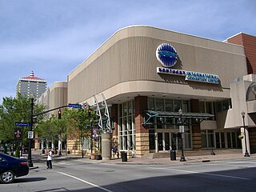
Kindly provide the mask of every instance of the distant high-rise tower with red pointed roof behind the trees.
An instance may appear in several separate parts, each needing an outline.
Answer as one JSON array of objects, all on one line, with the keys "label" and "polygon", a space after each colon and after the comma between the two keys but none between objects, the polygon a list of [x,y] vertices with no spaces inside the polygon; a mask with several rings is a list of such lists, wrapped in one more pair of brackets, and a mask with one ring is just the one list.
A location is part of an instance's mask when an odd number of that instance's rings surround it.
[{"label": "distant high-rise tower with red pointed roof behind the trees", "polygon": [[33,70],[29,77],[19,78],[16,93],[26,98],[38,99],[46,91],[46,80],[34,77]]}]

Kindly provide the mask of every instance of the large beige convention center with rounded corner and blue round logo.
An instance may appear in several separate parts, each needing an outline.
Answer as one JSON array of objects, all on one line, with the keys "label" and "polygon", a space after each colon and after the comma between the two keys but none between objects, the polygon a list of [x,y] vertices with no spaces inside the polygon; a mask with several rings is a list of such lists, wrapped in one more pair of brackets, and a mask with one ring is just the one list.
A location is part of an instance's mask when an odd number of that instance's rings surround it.
[{"label": "large beige convention center with rounded corner and blue round logo", "polygon": [[[253,46],[236,45],[240,38]],[[242,33],[219,42],[128,26],[54,89],[66,90],[67,103],[94,106],[95,98],[104,98],[113,143],[134,156],[170,150],[256,153],[255,49],[256,38]],[[67,145],[72,148],[74,141]]]}]

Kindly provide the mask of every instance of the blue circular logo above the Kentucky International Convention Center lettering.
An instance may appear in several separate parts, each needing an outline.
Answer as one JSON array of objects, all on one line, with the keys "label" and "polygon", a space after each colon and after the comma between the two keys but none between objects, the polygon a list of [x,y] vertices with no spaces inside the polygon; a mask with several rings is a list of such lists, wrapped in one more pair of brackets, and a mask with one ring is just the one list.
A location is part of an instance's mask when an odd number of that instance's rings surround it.
[{"label": "blue circular logo above the Kentucky International Convention Center lettering", "polygon": [[158,46],[156,50],[156,56],[158,58],[158,62],[165,67],[172,67],[176,64],[178,60],[178,54],[173,46],[168,43],[163,43]]}]

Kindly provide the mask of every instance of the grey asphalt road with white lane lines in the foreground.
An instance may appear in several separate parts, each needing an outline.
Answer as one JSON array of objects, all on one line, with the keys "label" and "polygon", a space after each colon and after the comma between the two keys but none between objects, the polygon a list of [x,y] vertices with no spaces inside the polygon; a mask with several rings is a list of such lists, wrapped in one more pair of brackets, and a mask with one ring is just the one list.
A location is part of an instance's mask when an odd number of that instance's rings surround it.
[{"label": "grey asphalt road with white lane lines in the foreground", "polygon": [[52,170],[38,169],[1,192],[45,191],[256,191],[256,160],[206,162],[178,166],[117,165],[78,159],[54,162]]}]

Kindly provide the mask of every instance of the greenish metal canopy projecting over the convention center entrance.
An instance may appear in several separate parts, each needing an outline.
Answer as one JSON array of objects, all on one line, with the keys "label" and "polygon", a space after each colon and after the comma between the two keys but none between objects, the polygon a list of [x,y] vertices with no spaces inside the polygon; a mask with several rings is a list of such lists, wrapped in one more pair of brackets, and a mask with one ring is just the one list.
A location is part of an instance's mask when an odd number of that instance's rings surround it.
[{"label": "greenish metal canopy projecting over the convention center entrance", "polygon": [[151,125],[151,118],[184,118],[184,119],[198,119],[200,122],[208,118],[214,118],[214,114],[206,113],[183,113],[179,112],[169,112],[169,111],[159,111],[159,110],[144,110],[144,122],[142,126]]}]

